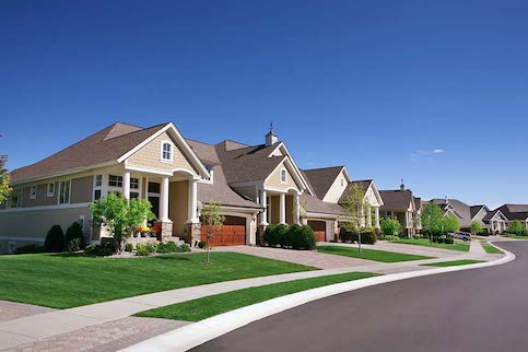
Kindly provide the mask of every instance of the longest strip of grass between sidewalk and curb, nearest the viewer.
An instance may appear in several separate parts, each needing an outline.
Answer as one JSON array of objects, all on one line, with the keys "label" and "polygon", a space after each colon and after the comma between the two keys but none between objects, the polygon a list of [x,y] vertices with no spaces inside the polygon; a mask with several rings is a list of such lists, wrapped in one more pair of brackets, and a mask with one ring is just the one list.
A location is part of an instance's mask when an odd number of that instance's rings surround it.
[{"label": "longest strip of grass between sidewalk and curb, nearest the viewer", "polygon": [[336,275],[274,283],[187,301],[171,306],[142,312],[137,314],[137,316],[199,321],[225,312],[234,310],[295,292],[375,275],[377,274],[367,272],[349,272]]}]

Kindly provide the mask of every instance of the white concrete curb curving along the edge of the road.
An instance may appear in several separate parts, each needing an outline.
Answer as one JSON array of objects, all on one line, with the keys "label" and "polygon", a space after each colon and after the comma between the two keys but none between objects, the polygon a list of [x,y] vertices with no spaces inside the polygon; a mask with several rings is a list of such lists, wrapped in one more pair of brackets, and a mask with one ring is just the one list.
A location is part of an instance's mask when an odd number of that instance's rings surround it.
[{"label": "white concrete curb curving along the edge of the road", "polygon": [[187,351],[197,345],[213,340],[222,335],[246,326],[253,321],[263,319],[271,315],[301,306],[316,300],[388,282],[433,275],[438,273],[494,267],[515,260],[515,255],[513,253],[507,251],[494,244],[491,245],[504,251],[505,256],[493,261],[458,267],[445,267],[410,272],[391,273],[382,277],[342,282],[328,286],[302,291],[290,295],[277,297],[270,301],[257,303],[243,308],[238,308],[235,310],[231,310],[224,314],[220,314],[218,316],[184,326],[183,328],[165,332],[152,339],[131,345],[121,351]]}]

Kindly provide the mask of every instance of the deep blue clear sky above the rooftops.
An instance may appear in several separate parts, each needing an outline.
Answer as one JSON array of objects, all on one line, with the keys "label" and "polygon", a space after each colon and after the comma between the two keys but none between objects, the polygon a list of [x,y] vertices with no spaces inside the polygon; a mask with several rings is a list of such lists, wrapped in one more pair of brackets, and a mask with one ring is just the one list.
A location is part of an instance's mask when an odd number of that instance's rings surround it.
[{"label": "deep blue clear sky above the rooftops", "polygon": [[526,1],[0,1],[0,153],[125,121],[380,189],[528,203]]}]

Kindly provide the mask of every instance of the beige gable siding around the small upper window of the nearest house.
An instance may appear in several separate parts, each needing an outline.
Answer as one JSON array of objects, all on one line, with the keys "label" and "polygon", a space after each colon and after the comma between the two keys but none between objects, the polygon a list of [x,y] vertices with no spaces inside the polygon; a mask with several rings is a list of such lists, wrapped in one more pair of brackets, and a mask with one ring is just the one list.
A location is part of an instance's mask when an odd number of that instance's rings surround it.
[{"label": "beige gable siding around the small upper window of the nearest house", "polygon": [[[161,161],[161,150],[163,141],[171,141],[174,144],[172,162]],[[189,161],[185,157],[176,141],[171,138],[171,136],[168,136],[168,133],[166,132],[160,134],[153,141],[151,141],[138,152],[136,152],[133,155],[131,155],[127,160],[127,163],[130,166],[150,168],[161,172],[172,172],[175,168],[184,168],[191,174],[197,175],[197,172],[191,166]]]}]

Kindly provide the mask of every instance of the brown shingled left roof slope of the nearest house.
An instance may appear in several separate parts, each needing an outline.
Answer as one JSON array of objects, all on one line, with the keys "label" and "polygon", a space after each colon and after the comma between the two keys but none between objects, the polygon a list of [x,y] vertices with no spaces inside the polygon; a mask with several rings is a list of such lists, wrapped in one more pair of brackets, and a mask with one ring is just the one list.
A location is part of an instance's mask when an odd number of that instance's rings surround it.
[{"label": "brown shingled left roof slope of the nearest house", "polygon": [[150,128],[116,122],[35,164],[14,169],[13,184],[67,174],[98,164],[116,162],[125,153],[163,129],[167,124]]}]

